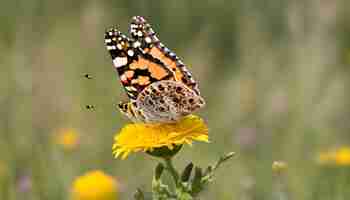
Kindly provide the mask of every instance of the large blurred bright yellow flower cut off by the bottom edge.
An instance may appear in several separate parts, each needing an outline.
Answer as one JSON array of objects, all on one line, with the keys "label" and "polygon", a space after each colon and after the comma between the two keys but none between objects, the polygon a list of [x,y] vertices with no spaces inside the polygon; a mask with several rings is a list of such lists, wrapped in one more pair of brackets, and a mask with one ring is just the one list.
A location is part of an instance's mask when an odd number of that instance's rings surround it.
[{"label": "large blurred bright yellow flower cut off by the bottom edge", "polygon": [[95,170],[75,179],[72,187],[72,200],[117,200],[116,180]]}]

